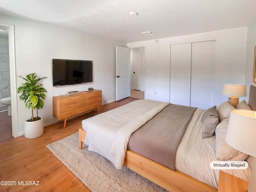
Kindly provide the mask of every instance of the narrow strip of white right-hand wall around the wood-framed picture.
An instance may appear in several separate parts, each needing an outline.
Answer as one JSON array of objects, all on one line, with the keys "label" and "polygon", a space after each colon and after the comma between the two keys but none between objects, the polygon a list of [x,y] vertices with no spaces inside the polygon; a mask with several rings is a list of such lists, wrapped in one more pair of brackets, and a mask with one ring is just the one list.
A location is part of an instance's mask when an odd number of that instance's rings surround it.
[{"label": "narrow strip of white right-hand wall around the wood-framed picture", "polygon": [[256,46],[256,18],[250,24],[250,26],[248,26],[248,32],[247,32],[246,73],[245,73],[247,97],[249,96],[250,85],[256,86],[256,83],[252,82],[254,46]]}]

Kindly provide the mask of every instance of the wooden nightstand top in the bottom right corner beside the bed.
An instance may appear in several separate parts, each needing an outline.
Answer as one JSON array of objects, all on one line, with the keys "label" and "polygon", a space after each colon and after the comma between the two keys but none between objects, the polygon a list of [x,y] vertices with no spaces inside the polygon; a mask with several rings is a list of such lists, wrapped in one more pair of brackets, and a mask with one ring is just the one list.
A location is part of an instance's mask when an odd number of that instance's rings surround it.
[{"label": "wooden nightstand top in the bottom right corner beside the bed", "polygon": [[218,192],[247,192],[248,181],[220,170]]}]

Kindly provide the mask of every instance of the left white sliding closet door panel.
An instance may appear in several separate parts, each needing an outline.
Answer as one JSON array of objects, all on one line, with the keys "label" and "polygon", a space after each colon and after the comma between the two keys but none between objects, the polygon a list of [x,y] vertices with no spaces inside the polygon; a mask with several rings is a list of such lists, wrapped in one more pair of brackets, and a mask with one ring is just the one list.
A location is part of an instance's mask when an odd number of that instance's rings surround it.
[{"label": "left white sliding closet door panel", "polygon": [[170,103],[190,106],[191,43],[171,44]]}]

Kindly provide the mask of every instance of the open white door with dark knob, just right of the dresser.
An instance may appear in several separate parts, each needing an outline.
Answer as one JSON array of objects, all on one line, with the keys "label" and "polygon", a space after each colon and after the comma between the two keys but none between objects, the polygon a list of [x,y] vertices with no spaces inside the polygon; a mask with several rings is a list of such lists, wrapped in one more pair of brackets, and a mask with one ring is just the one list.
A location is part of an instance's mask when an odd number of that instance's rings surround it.
[{"label": "open white door with dark knob, just right of the dresser", "polygon": [[116,46],[116,100],[130,95],[130,48]]}]

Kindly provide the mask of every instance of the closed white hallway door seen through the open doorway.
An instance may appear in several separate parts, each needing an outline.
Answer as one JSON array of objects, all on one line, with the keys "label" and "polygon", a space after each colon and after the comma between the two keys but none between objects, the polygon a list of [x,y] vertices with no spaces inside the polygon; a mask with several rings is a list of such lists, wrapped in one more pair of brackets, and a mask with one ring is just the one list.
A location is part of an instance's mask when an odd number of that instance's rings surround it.
[{"label": "closed white hallway door seen through the open doorway", "polygon": [[132,88],[135,90],[141,90],[141,51],[133,51],[133,85]]}]

